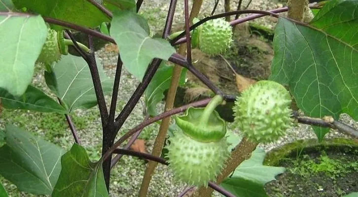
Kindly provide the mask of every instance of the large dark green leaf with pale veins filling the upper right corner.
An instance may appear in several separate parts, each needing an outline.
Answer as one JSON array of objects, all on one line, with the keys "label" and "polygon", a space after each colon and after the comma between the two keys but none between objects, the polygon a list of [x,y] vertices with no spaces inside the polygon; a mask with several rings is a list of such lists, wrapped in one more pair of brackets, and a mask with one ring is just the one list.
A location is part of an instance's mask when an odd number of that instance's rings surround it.
[{"label": "large dark green leaf with pale veins filling the upper right corner", "polygon": [[[358,1],[331,0],[310,25],[280,18],[270,80],[288,84],[307,115],[358,119]],[[314,127],[319,140],[328,129]]]}]

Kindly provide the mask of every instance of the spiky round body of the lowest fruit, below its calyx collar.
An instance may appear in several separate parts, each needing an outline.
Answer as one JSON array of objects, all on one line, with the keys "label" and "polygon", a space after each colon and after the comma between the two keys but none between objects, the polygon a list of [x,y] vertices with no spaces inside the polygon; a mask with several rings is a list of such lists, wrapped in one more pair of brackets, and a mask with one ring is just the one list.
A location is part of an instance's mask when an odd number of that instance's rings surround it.
[{"label": "spiky round body of the lowest fruit, below its calyx collar", "polygon": [[177,131],[169,140],[169,167],[175,178],[190,185],[207,187],[229,156],[226,137],[215,142],[200,142]]}]

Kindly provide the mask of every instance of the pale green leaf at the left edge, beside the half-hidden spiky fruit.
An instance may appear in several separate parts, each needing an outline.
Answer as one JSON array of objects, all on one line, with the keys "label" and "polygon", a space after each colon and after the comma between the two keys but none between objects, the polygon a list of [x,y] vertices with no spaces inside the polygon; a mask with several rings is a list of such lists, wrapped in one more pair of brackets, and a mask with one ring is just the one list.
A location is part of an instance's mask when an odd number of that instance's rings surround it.
[{"label": "pale green leaf at the left edge, beside the half-hidden spiky fruit", "polygon": [[41,16],[8,13],[0,15],[0,88],[21,96],[31,83],[47,27]]}]

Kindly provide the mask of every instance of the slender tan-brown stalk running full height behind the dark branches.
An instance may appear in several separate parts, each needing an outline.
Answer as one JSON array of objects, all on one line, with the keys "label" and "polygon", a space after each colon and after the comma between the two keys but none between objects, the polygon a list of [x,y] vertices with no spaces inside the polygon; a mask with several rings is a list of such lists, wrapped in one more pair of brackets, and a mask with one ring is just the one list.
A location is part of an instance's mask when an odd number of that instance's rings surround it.
[{"label": "slender tan-brown stalk running full height behind the dark branches", "polygon": [[[190,12],[189,21],[192,21],[192,19],[198,15],[202,2],[203,2],[203,0],[194,0],[193,6],[192,6],[192,9]],[[185,26],[186,26],[185,29],[187,30],[189,28],[187,21],[186,21]],[[185,51],[186,51],[186,44],[181,44],[179,46],[178,53],[180,55],[184,55]],[[171,110],[173,108],[174,100],[175,100],[177,89],[178,89],[181,70],[182,70],[181,66],[179,66],[179,65],[174,66],[173,74],[172,74],[172,81],[171,81],[171,84],[170,84],[170,87],[168,90],[167,99],[165,101],[165,111]],[[167,118],[164,118],[161,122],[159,131],[158,131],[158,135],[155,139],[154,147],[152,150],[153,156],[156,156],[156,157],[160,156],[163,146],[164,146],[165,138],[167,136],[167,131],[168,131],[169,125],[170,125],[170,116]],[[157,164],[158,163],[156,163],[156,162],[149,161],[147,168],[145,169],[145,172],[144,172],[142,185],[141,185],[141,188],[139,191],[139,197],[146,197],[146,194],[147,194],[148,188],[149,188],[149,184],[150,184],[150,180],[151,180],[153,171],[154,171],[155,167],[157,166]]]}]

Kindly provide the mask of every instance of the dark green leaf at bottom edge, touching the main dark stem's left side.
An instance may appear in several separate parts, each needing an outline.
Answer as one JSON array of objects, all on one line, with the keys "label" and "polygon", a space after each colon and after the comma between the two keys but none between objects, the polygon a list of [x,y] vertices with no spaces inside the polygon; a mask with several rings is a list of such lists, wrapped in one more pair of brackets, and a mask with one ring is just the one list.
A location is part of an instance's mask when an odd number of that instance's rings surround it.
[{"label": "dark green leaf at bottom edge, touching the main dark stem's left side", "polygon": [[61,158],[62,169],[52,197],[109,197],[102,160],[92,163],[86,150],[74,143]]}]

